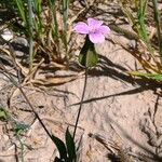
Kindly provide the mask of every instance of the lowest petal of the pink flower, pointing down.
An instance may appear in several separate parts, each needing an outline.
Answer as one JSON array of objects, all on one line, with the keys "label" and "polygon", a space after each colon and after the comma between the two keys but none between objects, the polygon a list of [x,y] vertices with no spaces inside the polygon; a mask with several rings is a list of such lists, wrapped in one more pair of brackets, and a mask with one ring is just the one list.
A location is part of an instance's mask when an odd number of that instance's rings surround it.
[{"label": "lowest petal of the pink flower, pointing down", "polygon": [[105,41],[105,37],[100,32],[89,33],[89,39],[93,43],[102,43]]}]

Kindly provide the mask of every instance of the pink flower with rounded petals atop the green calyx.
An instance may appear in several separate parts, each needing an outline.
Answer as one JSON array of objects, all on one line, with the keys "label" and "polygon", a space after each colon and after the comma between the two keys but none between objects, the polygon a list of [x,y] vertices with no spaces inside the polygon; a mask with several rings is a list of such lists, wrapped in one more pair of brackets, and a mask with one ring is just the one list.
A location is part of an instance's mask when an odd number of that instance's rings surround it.
[{"label": "pink flower with rounded petals atop the green calyx", "polygon": [[75,30],[78,33],[89,35],[89,39],[93,43],[102,43],[105,41],[105,36],[110,33],[110,28],[103,23],[103,21],[87,18],[87,24],[84,22],[77,23]]}]

